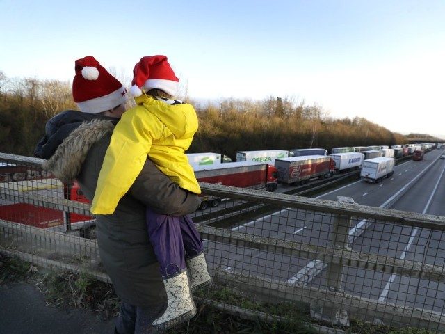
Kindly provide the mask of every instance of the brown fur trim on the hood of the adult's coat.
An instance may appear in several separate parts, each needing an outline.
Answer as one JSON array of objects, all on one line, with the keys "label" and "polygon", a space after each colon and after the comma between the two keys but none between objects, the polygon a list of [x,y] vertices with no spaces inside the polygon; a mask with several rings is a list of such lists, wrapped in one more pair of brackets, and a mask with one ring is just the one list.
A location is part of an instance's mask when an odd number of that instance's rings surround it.
[{"label": "brown fur trim on the hood of the adult's coat", "polygon": [[83,122],[58,145],[56,152],[43,168],[51,172],[63,183],[70,183],[81,171],[88,151],[97,141],[113,132],[110,120],[95,119]]}]

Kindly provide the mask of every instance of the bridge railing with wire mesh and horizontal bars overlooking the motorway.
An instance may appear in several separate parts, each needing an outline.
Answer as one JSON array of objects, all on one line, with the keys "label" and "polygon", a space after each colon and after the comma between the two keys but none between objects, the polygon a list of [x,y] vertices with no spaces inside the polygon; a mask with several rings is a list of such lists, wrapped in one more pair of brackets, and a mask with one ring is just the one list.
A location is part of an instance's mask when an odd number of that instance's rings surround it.
[{"label": "bridge railing with wire mesh and horizontal bars overlooking the motorway", "polygon": [[[0,154],[0,163],[0,253],[109,281],[95,239],[79,237],[89,205],[66,199],[40,159]],[[227,287],[240,299],[290,303],[307,308],[320,331],[355,319],[444,331],[444,217],[201,186],[225,199],[194,214],[213,276],[208,299]],[[74,228],[67,214],[80,215]]]}]

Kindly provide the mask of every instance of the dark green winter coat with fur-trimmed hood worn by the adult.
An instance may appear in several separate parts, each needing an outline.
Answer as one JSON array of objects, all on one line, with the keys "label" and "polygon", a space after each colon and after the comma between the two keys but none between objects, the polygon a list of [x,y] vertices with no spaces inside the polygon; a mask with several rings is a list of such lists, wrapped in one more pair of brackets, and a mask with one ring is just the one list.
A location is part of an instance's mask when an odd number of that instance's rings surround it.
[{"label": "dark green winter coat with fur-trimmed hood worn by the adult", "polygon": [[[108,121],[84,123],[65,138],[46,168],[65,182],[75,177],[92,200],[112,131]],[[180,189],[147,160],[115,213],[96,216],[99,255],[116,294],[126,303],[146,307],[165,303],[166,295],[149,243],[145,205],[155,212],[181,216],[194,212],[200,199]]]}]

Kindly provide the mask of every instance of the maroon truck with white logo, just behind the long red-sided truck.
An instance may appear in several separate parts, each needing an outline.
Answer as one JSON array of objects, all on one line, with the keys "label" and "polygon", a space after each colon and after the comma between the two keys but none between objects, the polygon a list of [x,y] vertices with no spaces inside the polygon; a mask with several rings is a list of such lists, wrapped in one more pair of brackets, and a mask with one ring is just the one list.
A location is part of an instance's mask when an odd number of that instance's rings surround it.
[{"label": "maroon truck with white logo, just behind the long red-sided truck", "polygon": [[314,177],[330,177],[334,173],[334,161],[326,155],[308,155],[275,159],[278,182],[303,184]]}]

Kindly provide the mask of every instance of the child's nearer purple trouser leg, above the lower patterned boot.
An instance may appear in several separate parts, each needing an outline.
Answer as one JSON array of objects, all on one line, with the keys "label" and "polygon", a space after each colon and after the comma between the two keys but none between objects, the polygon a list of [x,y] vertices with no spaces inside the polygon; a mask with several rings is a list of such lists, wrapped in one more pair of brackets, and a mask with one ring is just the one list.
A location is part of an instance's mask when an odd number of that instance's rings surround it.
[{"label": "child's nearer purple trouser leg, above the lower patterned boot", "polygon": [[158,259],[162,277],[169,278],[184,271],[186,262],[180,217],[156,214],[147,207],[145,218],[149,239]]}]

